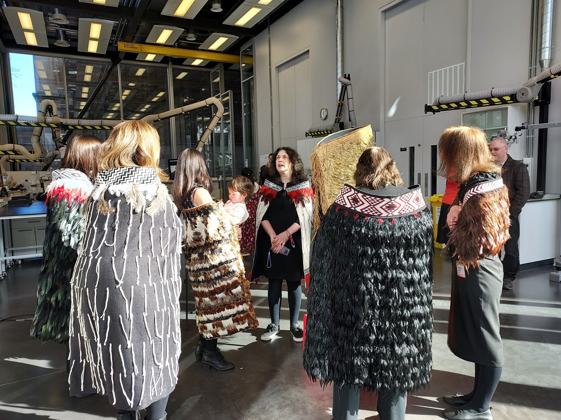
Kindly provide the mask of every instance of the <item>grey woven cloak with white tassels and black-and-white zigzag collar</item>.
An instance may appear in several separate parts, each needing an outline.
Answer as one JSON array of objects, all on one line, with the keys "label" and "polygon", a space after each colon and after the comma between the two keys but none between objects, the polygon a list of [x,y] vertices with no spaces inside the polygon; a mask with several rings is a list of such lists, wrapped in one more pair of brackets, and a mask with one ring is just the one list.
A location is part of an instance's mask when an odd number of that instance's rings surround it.
[{"label": "grey woven cloak with white tassels and black-and-white zigzag collar", "polygon": [[139,410],[169,395],[181,353],[181,222],[157,172],[99,171],[71,284],[70,395]]}]

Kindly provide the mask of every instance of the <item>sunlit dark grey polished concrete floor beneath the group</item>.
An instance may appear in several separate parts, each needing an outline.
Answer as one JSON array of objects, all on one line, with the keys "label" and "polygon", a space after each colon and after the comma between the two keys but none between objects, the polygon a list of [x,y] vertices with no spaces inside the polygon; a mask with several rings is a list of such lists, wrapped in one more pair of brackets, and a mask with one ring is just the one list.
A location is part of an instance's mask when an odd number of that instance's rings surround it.
[{"label": "sunlit dark grey polished concrete floor beneath the group", "polygon": [[[0,420],[115,418],[107,397],[68,396],[65,346],[29,337],[39,270],[39,261],[26,261],[0,280],[0,317],[25,319],[0,323]],[[548,281],[550,270],[522,272],[513,290],[503,293],[505,366],[492,404],[495,419],[561,419],[561,284]],[[429,389],[408,396],[408,420],[438,417],[448,408],[440,400],[443,394],[466,393],[473,385],[473,365],[455,357],[446,344],[449,273],[449,262],[436,256],[433,379]],[[288,331],[286,292],[282,332],[271,342],[259,340],[269,323],[266,283],[252,286],[252,296],[260,328],[219,340],[224,356],[236,363],[229,372],[205,371],[195,362],[194,315],[186,314],[179,383],[169,399],[168,420],[331,418],[332,389],[307,379],[302,345]],[[193,308],[191,295],[187,309]],[[304,299],[301,315],[305,310]],[[362,395],[360,408],[360,419],[379,418],[375,395]]]}]

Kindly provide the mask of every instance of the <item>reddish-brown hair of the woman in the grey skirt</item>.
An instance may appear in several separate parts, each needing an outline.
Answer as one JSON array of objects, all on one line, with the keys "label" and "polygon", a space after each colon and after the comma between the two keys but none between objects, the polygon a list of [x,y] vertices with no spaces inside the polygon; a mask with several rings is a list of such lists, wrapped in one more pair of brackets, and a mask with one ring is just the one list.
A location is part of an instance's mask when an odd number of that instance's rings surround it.
[{"label": "reddish-brown hair of the woman in the grey skirt", "polygon": [[[476,172],[501,172],[489,151],[487,136],[477,127],[448,127],[438,141],[439,175],[465,183]],[[449,176],[452,174],[452,176]]]}]

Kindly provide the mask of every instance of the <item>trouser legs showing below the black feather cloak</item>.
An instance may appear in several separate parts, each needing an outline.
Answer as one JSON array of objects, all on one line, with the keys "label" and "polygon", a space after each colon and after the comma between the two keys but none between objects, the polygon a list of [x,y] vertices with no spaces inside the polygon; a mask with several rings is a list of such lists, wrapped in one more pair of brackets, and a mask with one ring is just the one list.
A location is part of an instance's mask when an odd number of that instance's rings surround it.
[{"label": "trouser legs showing below the black feather cloak", "polygon": [[[360,388],[358,386],[333,384],[333,420],[357,420]],[[380,420],[404,420],[407,393],[378,393]]]}]

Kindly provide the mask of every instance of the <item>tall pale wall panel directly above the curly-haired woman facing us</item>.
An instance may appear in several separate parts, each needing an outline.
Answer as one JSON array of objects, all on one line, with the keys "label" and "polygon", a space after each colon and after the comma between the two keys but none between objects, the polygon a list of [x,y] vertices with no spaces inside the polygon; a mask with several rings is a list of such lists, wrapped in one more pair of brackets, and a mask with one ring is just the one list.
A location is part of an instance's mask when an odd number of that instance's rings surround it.
[{"label": "tall pale wall panel directly above the curly-haired woman facing us", "polygon": [[280,146],[293,147],[311,126],[310,53],[277,68]]}]

